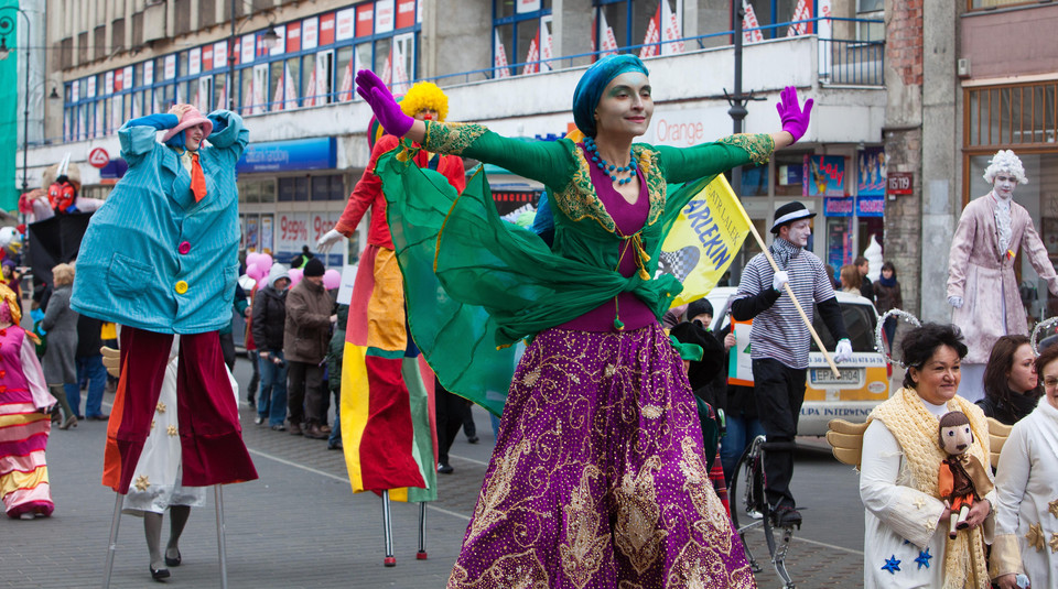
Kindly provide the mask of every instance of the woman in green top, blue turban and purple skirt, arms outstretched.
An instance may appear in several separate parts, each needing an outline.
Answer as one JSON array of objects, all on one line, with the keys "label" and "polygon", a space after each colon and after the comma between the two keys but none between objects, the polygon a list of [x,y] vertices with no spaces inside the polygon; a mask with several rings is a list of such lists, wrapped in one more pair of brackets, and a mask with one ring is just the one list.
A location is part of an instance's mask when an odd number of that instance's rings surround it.
[{"label": "woman in green top, blue turban and purple skirt, arms outstretched", "polygon": [[[796,91],[784,90],[782,131],[771,134],[688,149],[634,144],[654,111],[647,76],[631,55],[598,61],[573,97],[583,138],[523,142],[478,124],[415,121],[377,76],[357,75],[357,91],[387,132],[535,178],[548,188],[541,209],[553,215],[548,247],[499,219],[482,178],[456,198],[408,166],[400,149],[376,168],[395,236],[438,228],[429,243],[435,259],[422,255],[417,265],[413,250],[429,240],[410,238],[398,257],[412,334],[441,382],[474,396],[461,384],[486,373],[478,364],[488,350],[531,340],[450,588],[755,586],[710,484],[682,361],[659,323],[681,285],[655,274],[689,199],[715,175],[767,162],[797,141],[811,100],[802,110]],[[677,183],[685,185],[669,192]],[[445,196],[451,207],[424,212]],[[415,299],[438,295],[414,292],[415,273],[431,262],[449,297],[487,312],[487,345],[469,331],[453,336],[454,323],[425,327]],[[444,338],[452,343],[434,345]],[[466,366],[454,366],[460,347],[473,348]]]}]

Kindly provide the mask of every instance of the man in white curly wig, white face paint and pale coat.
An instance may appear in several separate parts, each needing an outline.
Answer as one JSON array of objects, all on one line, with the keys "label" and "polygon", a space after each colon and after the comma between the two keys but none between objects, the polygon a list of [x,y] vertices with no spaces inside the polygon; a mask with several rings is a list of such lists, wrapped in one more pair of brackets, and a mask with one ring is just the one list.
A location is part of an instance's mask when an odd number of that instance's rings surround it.
[{"label": "man in white curly wig, white face paint and pale coat", "polygon": [[948,253],[948,303],[951,321],[962,329],[970,352],[962,361],[959,395],[984,396],[984,367],[995,341],[1005,335],[1028,334],[1014,275],[1018,248],[1047,288],[1058,295],[1058,276],[1025,207],[1014,201],[1014,188],[1027,184],[1022,161],[1013,151],[992,157],[984,179],[992,192],[974,198],[959,219]]}]

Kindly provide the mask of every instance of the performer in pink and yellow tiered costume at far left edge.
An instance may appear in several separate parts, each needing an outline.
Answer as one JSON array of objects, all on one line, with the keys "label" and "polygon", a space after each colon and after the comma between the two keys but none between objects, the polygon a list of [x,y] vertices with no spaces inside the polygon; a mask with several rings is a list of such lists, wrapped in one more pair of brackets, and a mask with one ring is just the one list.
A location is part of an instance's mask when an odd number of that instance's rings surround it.
[{"label": "performer in pink and yellow tiered costume at far left edge", "polygon": [[55,510],[44,450],[55,404],[36,359],[33,337],[19,321],[14,293],[0,285],[0,494],[12,519],[46,517]]}]

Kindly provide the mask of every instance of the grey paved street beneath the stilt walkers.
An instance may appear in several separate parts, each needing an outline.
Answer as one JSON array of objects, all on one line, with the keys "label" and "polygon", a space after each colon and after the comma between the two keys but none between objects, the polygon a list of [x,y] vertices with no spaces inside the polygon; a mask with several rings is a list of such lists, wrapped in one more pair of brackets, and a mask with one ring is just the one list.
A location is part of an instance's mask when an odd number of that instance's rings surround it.
[{"label": "grey paved street beneath the stilt walkers", "polygon": [[[240,359],[240,383],[249,381],[249,371]],[[475,411],[482,441],[469,445],[461,435],[452,449],[455,473],[439,477],[441,499],[427,510],[428,560],[415,559],[418,506],[393,503],[396,568],[382,566],[380,500],[349,491],[341,452],[327,451],[322,440],[256,426],[252,416],[244,405],[244,435],[260,479],[224,488],[229,587],[444,587],[492,450],[483,411]],[[47,460],[55,514],[31,522],[0,519],[0,587],[100,586],[115,498],[99,484],[105,437],[106,424],[96,422],[53,430]],[[806,524],[787,561],[799,588],[862,586],[856,483],[852,468],[828,451],[798,452],[794,488]],[[163,530],[164,542],[168,524]],[[763,535],[752,546],[758,557],[767,555]],[[219,586],[212,491],[207,506],[192,512],[181,552],[183,565],[172,569],[168,585]],[[122,516],[111,586],[154,587],[148,560],[141,521]],[[757,579],[760,587],[779,586],[768,566]]]}]

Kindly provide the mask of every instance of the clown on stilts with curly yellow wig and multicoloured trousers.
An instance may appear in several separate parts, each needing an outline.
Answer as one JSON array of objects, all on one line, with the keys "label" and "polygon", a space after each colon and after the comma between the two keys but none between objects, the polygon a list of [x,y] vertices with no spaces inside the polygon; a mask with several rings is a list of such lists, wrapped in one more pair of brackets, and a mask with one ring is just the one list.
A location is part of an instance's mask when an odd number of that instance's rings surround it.
[{"label": "clown on stilts with curly yellow wig and multicoloured trousers", "polygon": [[[419,120],[443,121],[449,100],[432,83],[419,83],[403,96],[400,108]],[[376,127],[376,126],[373,126]],[[377,132],[381,132],[378,128]],[[342,368],[342,443],[354,492],[382,497],[387,566],[396,564],[390,533],[389,500],[420,503],[419,558],[425,558],[423,516],[427,501],[438,498],[436,425],[433,378],[408,334],[404,281],[386,225],[386,197],[376,174],[382,154],[399,151],[404,161],[436,173],[439,182],[462,192],[466,185],[463,160],[422,149],[391,134],[375,140],[364,175],[334,229],[317,242],[326,252],[353,236],[371,209],[367,247],[349,304]],[[424,381],[423,375],[427,379]]]}]

